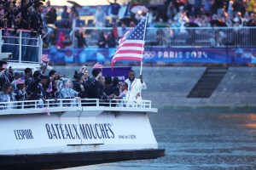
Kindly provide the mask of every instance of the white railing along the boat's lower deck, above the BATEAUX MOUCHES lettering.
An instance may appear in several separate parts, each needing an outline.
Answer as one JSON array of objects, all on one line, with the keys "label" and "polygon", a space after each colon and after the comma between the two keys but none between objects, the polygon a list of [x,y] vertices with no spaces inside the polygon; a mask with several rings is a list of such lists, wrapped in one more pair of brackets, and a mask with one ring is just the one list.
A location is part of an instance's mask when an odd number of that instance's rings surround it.
[{"label": "white railing along the boat's lower deck, above the BATEAUX MOUCHES lettering", "polygon": [[[68,111],[71,111],[71,108],[78,109],[79,107],[105,107],[111,109],[111,111],[114,108],[151,109],[151,101],[137,99],[111,99],[108,101],[101,99],[46,99],[45,101],[24,100],[0,102],[0,110],[2,111],[28,111],[42,108],[54,109],[55,111],[67,111],[68,108]],[[109,109],[107,110],[110,111]]]}]

